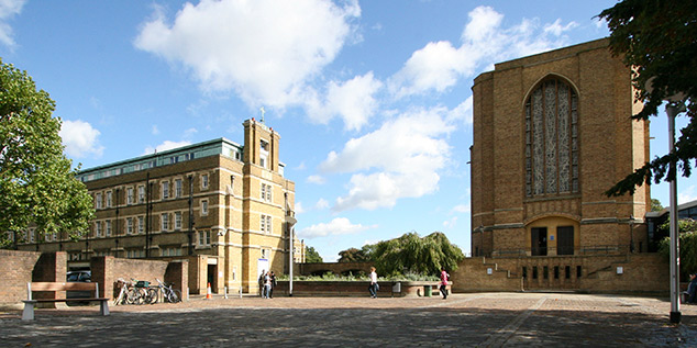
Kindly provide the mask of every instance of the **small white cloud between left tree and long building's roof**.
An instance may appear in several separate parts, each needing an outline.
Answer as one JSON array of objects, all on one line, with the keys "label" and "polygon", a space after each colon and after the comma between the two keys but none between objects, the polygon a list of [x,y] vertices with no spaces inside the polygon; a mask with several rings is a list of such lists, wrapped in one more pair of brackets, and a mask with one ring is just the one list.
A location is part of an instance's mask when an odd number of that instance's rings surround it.
[{"label": "small white cloud between left tree and long building's roof", "polygon": [[81,120],[64,120],[58,133],[63,138],[65,151],[75,158],[84,158],[88,154],[101,156],[104,148],[99,145],[100,134],[89,123]]}]

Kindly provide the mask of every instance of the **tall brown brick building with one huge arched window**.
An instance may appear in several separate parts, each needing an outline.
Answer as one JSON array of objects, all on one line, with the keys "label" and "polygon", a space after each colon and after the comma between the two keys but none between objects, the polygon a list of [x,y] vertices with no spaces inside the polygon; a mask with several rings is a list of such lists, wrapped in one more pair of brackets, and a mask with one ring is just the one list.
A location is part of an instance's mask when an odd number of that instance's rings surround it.
[{"label": "tall brown brick building with one huge arched window", "polygon": [[[512,288],[594,288],[579,279],[648,251],[649,186],[604,194],[649,160],[649,123],[630,119],[641,109],[630,72],[604,38],[475,79],[471,251],[493,262],[489,276],[506,265]],[[624,279],[634,276],[651,278]]]}]

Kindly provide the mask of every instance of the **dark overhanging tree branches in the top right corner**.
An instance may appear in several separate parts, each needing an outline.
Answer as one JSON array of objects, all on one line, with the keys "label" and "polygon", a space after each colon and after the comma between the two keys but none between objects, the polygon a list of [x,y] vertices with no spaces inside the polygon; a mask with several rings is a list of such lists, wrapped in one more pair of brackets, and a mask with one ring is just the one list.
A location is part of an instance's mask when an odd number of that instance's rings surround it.
[{"label": "dark overhanging tree branches in the top right corner", "polygon": [[[687,100],[689,124],[682,130],[675,150],[656,157],[610,188],[607,195],[634,193],[652,181],[672,180],[676,164],[689,177],[697,162],[697,1],[623,0],[602,11],[610,29],[610,49],[632,68],[635,99],[644,106],[635,120],[655,115],[666,97],[683,93]],[[645,86],[652,79],[653,89]]]}]

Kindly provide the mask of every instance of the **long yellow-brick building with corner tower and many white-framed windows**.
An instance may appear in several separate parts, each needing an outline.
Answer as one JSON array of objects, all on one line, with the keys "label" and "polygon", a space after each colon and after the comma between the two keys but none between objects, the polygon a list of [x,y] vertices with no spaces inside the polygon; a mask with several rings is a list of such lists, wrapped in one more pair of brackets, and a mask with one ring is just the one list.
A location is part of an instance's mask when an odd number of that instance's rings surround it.
[{"label": "long yellow-brick building with corner tower and many white-framed windows", "polygon": [[279,134],[254,119],[243,126],[244,146],[219,138],[80,171],[96,210],[90,231],[73,242],[30,229],[18,248],[66,251],[70,268],[92,256],[191,257],[189,273],[203,283],[193,291],[257,291],[263,270],[288,273],[305,246]]}]

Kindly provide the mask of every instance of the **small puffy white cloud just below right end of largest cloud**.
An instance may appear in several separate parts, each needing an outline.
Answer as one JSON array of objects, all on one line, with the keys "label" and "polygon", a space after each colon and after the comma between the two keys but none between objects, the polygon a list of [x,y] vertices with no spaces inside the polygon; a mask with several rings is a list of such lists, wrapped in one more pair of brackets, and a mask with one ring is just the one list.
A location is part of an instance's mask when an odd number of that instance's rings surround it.
[{"label": "small puffy white cloud just below right end of largest cloud", "polygon": [[374,94],[381,88],[383,82],[375,79],[373,71],[344,82],[330,81],[324,102],[316,96],[307,98],[308,115],[321,124],[340,116],[346,130],[361,131],[377,109]]}]

